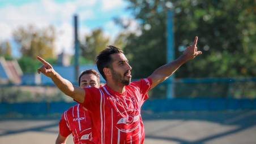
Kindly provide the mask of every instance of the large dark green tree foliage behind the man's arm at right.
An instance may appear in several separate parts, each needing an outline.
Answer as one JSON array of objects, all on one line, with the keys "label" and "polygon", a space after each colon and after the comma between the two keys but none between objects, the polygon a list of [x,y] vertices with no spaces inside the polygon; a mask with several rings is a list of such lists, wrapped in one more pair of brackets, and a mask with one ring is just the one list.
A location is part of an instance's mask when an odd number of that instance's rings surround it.
[{"label": "large dark green tree foliage behind the man's arm at right", "polygon": [[[166,63],[167,11],[173,5],[176,58],[198,36],[203,55],[186,63],[176,77],[245,77],[256,75],[256,10],[246,1],[127,0],[142,34],[127,38],[125,52],[135,78],[149,76]],[[172,5],[171,5],[172,4]]]}]

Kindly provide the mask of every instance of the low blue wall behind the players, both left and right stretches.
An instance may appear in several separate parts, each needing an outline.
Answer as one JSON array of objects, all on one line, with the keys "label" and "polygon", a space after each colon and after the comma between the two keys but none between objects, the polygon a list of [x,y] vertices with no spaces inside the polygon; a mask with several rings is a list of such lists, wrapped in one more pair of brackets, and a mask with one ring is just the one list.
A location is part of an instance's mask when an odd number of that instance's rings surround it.
[{"label": "low blue wall behind the players, both left and right stretches", "polygon": [[[41,103],[1,103],[0,115],[49,115],[62,114],[76,103],[41,102]],[[256,110],[256,99],[155,99],[144,103],[143,111],[223,111]]]}]

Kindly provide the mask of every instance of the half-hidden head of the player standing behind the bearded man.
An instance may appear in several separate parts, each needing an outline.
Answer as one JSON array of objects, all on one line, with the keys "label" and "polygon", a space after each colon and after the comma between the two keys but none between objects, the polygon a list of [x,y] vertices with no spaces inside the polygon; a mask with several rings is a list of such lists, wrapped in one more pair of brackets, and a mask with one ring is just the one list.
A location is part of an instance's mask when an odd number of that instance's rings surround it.
[{"label": "half-hidden head of the player standing behind the bearded man", "polygon": [[100,75],[93,69],[83,71],[78,78],[78,85],[81,88],[95,87],[100,88]]}]

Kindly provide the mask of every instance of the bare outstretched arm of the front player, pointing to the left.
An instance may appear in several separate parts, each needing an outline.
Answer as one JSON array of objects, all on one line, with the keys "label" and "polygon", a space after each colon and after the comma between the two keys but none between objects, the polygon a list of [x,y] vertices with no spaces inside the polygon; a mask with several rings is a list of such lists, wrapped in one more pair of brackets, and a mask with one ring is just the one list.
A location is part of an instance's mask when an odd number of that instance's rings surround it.
[{"label": "bare outstretched arm of the front player, pointing to the left", "polygon": [[41,68],[37,69],[37,73],[43,73],[45,76],[50,77],[54,84],[69,97],[80,103],[84,102],[84,95],[86,95],[86,91],[79,86],[72,85],[70,81],[61,77],[61,75],[54,71],[53,67],[44,59],[39,56],[37,56],[37,59],[42,63]]}]

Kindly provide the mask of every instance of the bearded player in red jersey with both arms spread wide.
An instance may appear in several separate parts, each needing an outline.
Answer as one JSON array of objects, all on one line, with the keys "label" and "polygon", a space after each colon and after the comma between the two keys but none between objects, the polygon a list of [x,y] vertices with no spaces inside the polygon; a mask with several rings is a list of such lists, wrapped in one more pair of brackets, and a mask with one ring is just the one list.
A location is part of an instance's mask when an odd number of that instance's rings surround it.
[{"label": "bearded player in red jersey with both arms spread wide", "polygon": [[157,68],[150,77],[131,82],[131,66],[122,50],[108,46],[97,56],[99,72],[106,85],[81,89],[56,73],[45,60],[38,72],[52,78],[66,95],[74,98],[92,113],[92,133],[95,143],[143,143],[144,126],[140,110],[148,99],[148,90],[153,89],[171,76],[182,64],[202,54],[197,50],[195,37],[178,59]]}]

